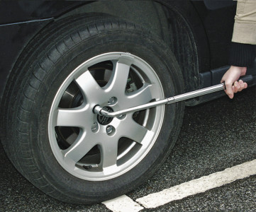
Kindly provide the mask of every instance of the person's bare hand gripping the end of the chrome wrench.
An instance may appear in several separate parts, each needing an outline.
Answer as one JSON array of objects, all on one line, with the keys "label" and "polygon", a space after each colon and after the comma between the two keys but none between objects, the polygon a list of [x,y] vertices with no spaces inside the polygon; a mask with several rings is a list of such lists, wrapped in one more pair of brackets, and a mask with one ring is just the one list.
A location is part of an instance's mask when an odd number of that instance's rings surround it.
[{"label": "person's bare hand gripping the end of the chrome wrench", "polygon": [[245,76],[246,70],[246,67],[230,66],[230,69],[223,75],[221,83],[225,81],[225,92],[230,99],[233,99],[234,93],[247,88],[247,83],[244,83],[242,80],[238,82],[240,76]]}]

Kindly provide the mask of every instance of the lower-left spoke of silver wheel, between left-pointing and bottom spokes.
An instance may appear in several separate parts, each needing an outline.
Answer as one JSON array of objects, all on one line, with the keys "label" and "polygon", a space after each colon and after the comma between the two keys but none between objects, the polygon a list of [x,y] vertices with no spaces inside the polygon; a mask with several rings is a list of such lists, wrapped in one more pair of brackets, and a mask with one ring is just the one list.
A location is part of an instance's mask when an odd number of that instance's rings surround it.
[{"label": "lower-left spoke of silver wheel, between left-pointing and bottom spokes", "polygon": [[72,160],[77,163],[96,145],[95,137],[81,132],[72,146],[62,151],[64,160]]}]

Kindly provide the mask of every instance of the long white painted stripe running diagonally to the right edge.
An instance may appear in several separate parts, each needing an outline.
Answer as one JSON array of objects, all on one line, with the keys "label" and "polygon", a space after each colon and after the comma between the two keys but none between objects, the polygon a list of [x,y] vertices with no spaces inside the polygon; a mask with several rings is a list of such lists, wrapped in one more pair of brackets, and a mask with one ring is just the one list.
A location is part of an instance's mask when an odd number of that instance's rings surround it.
[{"label": "long white painted stripe running diagonally to the right edge", "polygon": [[209,189],[221,187],[224,184],[249,177],[250,175],[256,175],[256,160],[227,168],[222,172],[216,172],[199,179],[184,182],[169,189],[164,189],[162,192],[143,196],[142,198],[136,199],[136,201],[145,206],[145,208],[156,208],[170,201],[206,192]]}]

